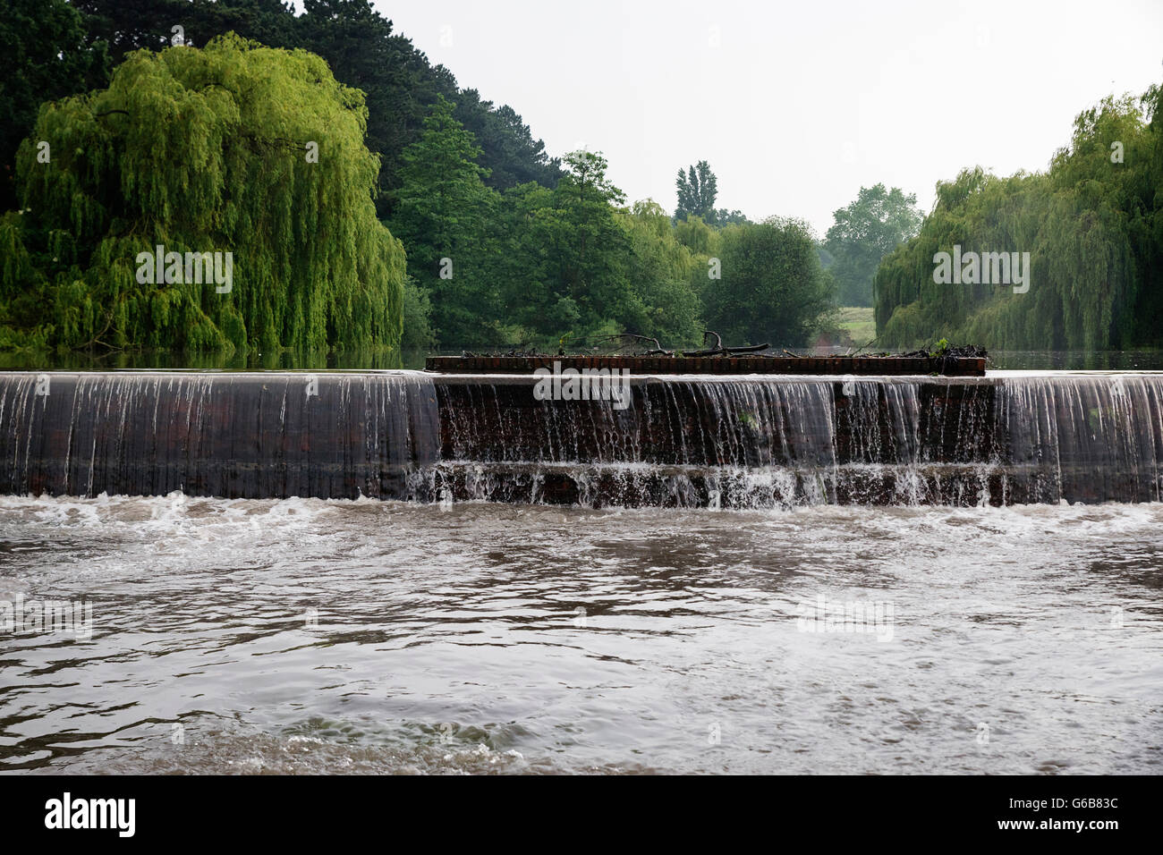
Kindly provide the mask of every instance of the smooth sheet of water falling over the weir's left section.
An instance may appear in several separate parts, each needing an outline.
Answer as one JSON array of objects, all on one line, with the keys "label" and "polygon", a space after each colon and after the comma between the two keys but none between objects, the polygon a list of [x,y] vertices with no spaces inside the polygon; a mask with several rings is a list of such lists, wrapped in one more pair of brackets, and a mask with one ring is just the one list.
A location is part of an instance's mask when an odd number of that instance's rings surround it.
[{"label": "smooth sheet of water falling over the weir's left section", "polygon": [[429,498],[429,378],[0,376],[0,492]]}]

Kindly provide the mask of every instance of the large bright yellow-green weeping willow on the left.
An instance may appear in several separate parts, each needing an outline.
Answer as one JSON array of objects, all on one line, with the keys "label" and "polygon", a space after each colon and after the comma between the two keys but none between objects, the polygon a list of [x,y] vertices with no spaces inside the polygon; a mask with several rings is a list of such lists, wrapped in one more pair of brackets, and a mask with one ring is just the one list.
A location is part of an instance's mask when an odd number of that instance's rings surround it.
[{"label": "large bright yellow-green weeping willow on the left", "polygon": [[[317,56],[234,34],[43,105],[0,220],[0,347],[395,348],[405,256],[366,121]],[[229,252],[230,282],[151,276],[159,247]]]}]

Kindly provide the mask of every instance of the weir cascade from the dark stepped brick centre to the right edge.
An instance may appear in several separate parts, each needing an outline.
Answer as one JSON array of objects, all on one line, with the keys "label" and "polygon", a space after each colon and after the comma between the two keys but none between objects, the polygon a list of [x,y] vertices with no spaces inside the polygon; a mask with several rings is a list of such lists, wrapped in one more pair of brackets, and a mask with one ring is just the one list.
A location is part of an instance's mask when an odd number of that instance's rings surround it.
[{"label": "weir cascade from the dark stepped brick centre to the right edge", "polygon": [[447,378],[438,479],[586,506],[1150,501],[1163,376],[638,378],[633,406]]}]

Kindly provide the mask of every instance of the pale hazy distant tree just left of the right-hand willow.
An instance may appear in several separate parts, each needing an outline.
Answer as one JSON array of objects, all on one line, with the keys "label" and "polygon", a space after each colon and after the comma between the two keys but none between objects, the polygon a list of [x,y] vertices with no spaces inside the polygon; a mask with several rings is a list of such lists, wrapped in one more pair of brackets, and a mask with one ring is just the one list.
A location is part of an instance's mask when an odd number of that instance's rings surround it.
[{"label": "pale hazy distant tree just left of the right-hand willow", "polygon": [[861,187],[856,199],[835,213],[825,248],[836,279],[836,300],[841,306],[871,306],[872,277],[880,259],[902,241],[916,235],[921,213],[916,197],[883,184]]}]

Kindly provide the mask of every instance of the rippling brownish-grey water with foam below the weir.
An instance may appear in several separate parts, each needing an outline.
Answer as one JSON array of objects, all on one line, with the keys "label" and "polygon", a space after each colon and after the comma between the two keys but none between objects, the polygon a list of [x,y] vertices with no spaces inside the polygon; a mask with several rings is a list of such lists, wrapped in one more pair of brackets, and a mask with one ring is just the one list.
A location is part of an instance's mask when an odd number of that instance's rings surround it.
[{"label": "rippling brownish-grey water with foam below the weir", "polygon": [[[1161,532],[0,498],[0,600],[93,605],[90,640],[0,632],[0,769],[1158,772]],[[821,597],[891,622],[807,632]]]}]

